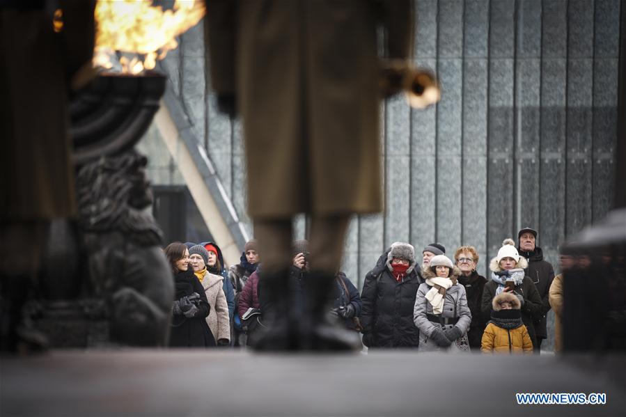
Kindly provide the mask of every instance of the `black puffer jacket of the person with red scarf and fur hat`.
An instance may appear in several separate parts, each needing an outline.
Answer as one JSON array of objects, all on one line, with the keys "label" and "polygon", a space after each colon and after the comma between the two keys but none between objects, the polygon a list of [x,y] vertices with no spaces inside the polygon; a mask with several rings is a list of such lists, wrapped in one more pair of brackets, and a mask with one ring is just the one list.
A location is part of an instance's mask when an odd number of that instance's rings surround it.
[{"label": "black puffer jacket of the person with red scarf and fur hat", "polygon": [[418,347],[419,331],[413,322],[417,289],[423,282],[411,265],[396,282],[386,265],[387,254],[368,272],[361,291],[363,344],[368,347]]}]

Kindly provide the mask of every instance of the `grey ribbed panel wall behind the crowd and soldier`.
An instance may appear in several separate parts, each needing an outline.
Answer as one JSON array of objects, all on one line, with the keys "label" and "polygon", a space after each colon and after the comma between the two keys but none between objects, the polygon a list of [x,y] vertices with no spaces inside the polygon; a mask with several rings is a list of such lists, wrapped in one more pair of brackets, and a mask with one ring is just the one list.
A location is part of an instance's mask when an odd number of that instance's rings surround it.
[{"label": "grey ribbed panel wall behind the crowd and soldier", "polygon": [[[523,226],[556,265],[563,239],[612,205],[619,15],[619,0],[416,2],[415,62],[437,70],[442,99],[425,111],[401,97],[382,105],[386,211],[352,221],[344,269],[355,284],[396,240],[418,252],[441,242],[449,255],[474,245],[486,274]],[[241,129],[205,86],[202,32],[185,33],[162,68],[250,225]],[[152,181],[171,180],[157,160]],[[295,223],[303,237],[306,219]]]}]

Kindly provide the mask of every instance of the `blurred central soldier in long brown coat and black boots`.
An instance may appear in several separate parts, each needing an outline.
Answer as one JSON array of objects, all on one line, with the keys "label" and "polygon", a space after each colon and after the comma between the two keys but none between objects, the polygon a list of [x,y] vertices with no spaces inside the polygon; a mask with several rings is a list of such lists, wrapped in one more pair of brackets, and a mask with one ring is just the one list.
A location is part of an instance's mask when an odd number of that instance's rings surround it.
[{"label": "blurred central soldier in long brown coat and black boots", "polygon": [[[379,45],[412,51],[412,0],[210,0],[208,68],[217,104],[243,117],[248,211],[276,306],[259,349],[358,349],[324,320],[351,214],[382,209]],[[292,217],[311,216],[311,285],[290,317]],[[269,318],[269,317],[268,317]]]}]

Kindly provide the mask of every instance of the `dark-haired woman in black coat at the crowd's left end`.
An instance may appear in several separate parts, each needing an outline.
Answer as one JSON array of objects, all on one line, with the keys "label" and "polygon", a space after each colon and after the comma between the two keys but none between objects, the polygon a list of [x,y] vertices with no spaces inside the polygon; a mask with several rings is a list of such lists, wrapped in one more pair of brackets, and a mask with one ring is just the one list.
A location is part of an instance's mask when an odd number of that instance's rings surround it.
[{"label": "dark-haired woman in black coat at the crowd's left end", "polygon": [[174,274],[171,347],[215,346],[215,338],[206,322],[210,305],[204,288],[189,265],[189,249],[180,242],[165,248]]}]

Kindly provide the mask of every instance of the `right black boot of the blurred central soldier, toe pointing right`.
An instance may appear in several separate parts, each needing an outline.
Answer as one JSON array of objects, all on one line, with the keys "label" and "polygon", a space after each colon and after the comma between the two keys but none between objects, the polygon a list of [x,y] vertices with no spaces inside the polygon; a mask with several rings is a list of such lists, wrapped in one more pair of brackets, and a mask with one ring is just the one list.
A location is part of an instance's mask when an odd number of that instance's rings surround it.
[{"label": "right black boot of the blurred central soldier, toe pointing right", "polygon": [[299,326],[301,350],[340,352],[362,348],[357,332],[329,317],[335,279],[325,272],[311,272],[306,278],[304,315]]}]

